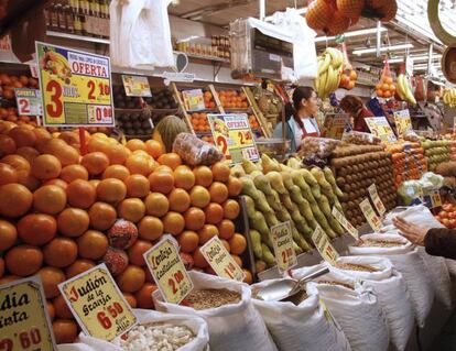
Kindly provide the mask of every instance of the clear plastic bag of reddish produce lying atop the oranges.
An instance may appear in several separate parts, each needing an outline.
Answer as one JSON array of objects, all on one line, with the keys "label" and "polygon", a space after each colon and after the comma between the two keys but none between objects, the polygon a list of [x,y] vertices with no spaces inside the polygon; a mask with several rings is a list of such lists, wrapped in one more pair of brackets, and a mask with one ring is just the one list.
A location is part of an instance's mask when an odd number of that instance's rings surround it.
[{"label": "clear plastic bag of reddish produce lying atop the oranges", "polygon": [[173,152],[191,166],[210,166],[224,155],[218,149],[191,133],[180,133],[173,143]]}]

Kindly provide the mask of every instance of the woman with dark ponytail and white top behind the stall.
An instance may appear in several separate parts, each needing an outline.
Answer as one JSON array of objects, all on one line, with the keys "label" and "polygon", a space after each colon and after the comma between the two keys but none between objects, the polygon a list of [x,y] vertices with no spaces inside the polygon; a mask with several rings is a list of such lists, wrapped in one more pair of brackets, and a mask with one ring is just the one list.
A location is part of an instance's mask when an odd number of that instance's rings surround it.
[{"label": "woman with dark ponytail and white top behind the stall", "polygon": [[[297,87],[293,92],[293,106],[285,108],[286,122],[285,139],[291,141],[290,153],[295,153],[301,141],[306,136],[319,136],[318,124],[315,120],[317,113],[317,95],[311,87]],[[282,138],[282,123],[278,123],[274,138]]]}]

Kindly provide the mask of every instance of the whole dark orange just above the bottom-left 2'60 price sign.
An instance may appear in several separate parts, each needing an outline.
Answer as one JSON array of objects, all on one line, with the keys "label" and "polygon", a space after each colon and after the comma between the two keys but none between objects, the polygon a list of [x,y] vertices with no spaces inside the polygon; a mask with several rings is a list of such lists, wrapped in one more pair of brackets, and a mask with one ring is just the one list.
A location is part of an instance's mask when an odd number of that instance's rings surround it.
[{"label": "whole dark orange just above the bottom-left 2'60 price sign", "polygon": [[43,253],[37,246],[21,244],[7,252],[4,263],[10,274],[29,276],[40,271]]}]

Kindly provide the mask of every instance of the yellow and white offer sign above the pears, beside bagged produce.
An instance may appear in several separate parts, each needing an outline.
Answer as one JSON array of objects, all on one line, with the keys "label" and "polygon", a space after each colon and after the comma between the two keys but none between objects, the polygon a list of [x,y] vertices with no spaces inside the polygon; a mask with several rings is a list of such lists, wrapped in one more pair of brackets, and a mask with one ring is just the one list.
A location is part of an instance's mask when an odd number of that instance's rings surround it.
[{"label": "yellow and white offer sign above the pears, beside bagged produce", "polygon": [[232,164],[260,160],[247,114],[208,114],[207,119],[216,145]]}]

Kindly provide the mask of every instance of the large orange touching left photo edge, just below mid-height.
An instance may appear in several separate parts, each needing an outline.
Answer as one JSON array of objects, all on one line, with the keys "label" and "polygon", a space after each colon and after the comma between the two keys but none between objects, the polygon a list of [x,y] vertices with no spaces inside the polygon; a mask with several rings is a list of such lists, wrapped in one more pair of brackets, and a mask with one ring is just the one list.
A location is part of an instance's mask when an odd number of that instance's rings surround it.
[{"label": "large orange touching left photo edge, just below mid-height", "polygon": [[33,195],[20,184],[0,186],[0,215],[4,217],[21,217],[25,215],[33,202]]}]

